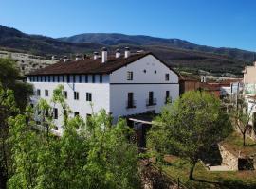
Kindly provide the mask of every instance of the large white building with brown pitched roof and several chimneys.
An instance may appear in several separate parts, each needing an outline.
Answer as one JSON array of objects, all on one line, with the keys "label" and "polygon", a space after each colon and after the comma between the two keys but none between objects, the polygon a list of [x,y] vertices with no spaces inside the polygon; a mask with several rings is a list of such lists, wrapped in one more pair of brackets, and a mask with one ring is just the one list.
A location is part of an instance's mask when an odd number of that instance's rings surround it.
[{"label": "large white building with brown pitched roof and several chimneys", "polygon": [[[152,53],[131,54],[128,48],[124,56],[108,56],[105,48],[101,56],[92,59],[63,60],[27,75],[27,82],[34,85],[35,96],[51,99],[53,90],[64,85],[66,102],[82,117],[105,109],[114,121],[119,116],[143,112],[161,111],[167,99],[179,95],[178,74]],[[52,105],[53,106],[53,105]],[[62,130],[62,111],[55,107],[55,122]]]}]

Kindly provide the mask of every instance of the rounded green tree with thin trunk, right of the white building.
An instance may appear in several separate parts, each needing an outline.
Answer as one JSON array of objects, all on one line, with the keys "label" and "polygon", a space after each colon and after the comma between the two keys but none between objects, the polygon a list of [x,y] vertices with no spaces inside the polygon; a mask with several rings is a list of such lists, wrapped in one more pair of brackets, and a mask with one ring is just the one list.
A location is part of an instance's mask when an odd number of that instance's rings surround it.
[{"label": "rounded green tree with thin trunk, right of the white building", "polygon": [[205,92],[187,92],[166,106],[149,133],[149,147],[163,157],[174,154],[195,164],[231,130],[229,116],[220,101]]}]

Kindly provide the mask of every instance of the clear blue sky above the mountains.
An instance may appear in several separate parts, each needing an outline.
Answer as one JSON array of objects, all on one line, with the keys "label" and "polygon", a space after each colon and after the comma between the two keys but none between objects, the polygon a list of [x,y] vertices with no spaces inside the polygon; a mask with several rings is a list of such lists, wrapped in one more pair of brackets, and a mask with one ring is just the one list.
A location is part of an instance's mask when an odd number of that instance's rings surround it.
[{"label": "clear blue sky above the mountains", "polygon": [[111,32],[256,51],[255,0],[0,0],[0,25],[50,37]]}]

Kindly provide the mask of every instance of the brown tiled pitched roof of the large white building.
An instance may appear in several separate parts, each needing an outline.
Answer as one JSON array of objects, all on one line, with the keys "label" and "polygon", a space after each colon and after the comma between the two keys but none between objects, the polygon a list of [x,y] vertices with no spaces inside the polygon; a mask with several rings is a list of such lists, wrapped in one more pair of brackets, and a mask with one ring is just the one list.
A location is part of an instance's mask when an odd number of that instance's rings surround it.
[{"label": "brown tiled pitched roof of the large white building", "polygon": [[[147,55],[153,55],[150,52],[140,53],[131,55],[128,58],[115,58],[108,57],[107,62],[101,63],[101,59],[93,60],[93,59],[85,59],[85,60],[77,60],[77,61],[59,61],[58,63],[49,65],[45,68],[36,70],[27,74],[27,76],[35,76],[35,75],[65,75],[65,74],[110,74],[119,68],[132,63],[136,60],[140,60]],[[155,55],[153,55],[155,57]],[[157,57],[155,57],[159,60]],[[170,68],[165,62],[161,61],[167,67]],[[172,68],[170,68],[173,70]],[[174,70],[173,70],[174,71]],[[175,74],[177,74],[174,71]],[[177,74],[178,75],[178,74]]]}]

